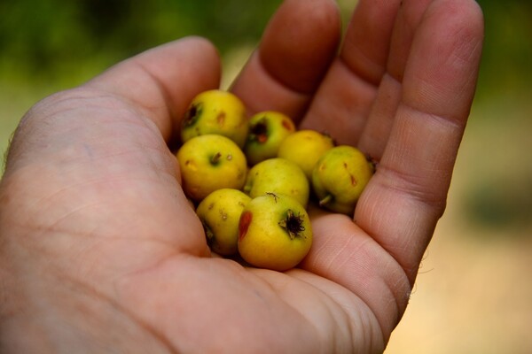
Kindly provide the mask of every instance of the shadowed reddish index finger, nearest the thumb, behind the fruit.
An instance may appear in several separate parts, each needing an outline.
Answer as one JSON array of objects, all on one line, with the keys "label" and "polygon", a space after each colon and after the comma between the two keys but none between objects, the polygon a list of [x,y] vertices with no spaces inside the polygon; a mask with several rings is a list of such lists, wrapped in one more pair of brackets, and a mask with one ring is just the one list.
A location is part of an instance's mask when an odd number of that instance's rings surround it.
[{"label": "shadowed reddish index finger, nearest the thumb, behind the fruit", "polygon": [[339,41],[335,2],[286,0],[231,90],[250,114],[277,110],[299,120],[336,55]]}]

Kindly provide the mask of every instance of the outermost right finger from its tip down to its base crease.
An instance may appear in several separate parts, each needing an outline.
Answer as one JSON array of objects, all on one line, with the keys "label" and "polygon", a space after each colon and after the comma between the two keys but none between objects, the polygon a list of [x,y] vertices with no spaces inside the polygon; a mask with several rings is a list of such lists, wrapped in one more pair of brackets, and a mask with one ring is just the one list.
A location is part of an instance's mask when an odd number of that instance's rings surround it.
[{"label": "outermost right finger from its tip down to its base crease", "polygon": [[429,5],[412,40],[387,146],[356,207],[357,225],[390,252],[411,283],[445,208],[482,39],[475,2]]}]

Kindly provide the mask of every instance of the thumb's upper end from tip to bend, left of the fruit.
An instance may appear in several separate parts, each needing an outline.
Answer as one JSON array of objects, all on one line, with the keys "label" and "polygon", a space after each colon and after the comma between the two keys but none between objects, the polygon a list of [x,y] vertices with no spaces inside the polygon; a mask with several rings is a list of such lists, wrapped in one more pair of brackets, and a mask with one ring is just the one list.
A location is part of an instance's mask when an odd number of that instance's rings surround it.
[{"label": "thumb's upper end from tip to bend, left of the fruit", "polygon": [[87,83],[128,100],[153,120],[169,140],[192,98],[220,83],[215,47],[200,37],[186,37],[129,58]]}]

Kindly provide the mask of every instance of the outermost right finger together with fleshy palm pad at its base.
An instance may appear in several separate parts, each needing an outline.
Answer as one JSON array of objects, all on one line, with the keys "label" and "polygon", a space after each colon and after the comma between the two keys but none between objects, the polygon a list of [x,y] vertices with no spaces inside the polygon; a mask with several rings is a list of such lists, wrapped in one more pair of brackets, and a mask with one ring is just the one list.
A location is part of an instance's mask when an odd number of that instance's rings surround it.
[{"label": "outermost right finger together with fleshy palm pad at its base", "polygon": [[312,214],[316,237],[301,266],[360,296],[385,338],[403,315],[443,212],[473,98],[481,22],[473,2],[435,1],[426,9],[411,42],[395,125],[355,223]]}]

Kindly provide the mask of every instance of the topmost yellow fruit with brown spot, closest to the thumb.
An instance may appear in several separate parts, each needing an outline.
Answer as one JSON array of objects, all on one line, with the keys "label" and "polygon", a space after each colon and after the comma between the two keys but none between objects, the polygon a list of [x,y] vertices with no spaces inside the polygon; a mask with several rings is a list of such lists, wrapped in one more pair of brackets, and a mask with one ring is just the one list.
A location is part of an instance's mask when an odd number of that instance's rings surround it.
[{"label": "topmost yellow fruit with brown spot, closest to the thumb", "polygon": [[181,139],[187,142],[198,135],[217,134],[230,138],[242,149],[248,128],[246,106],[239,97],[211,89],[192,99],[182,121]]}]

